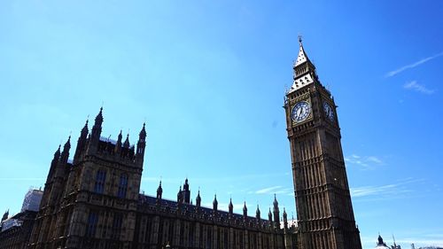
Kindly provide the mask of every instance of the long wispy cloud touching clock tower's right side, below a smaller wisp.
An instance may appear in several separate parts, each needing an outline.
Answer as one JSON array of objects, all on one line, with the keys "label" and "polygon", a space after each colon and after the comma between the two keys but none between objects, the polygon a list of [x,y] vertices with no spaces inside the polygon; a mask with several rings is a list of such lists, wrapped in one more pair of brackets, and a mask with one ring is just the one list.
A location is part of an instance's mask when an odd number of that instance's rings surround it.
[{"label": "long wispy cloud touching clock tower's right side, below a smaller wisp", "polygon": [[377,196],[380,198],[384,198],[389,196],[395,196],[411,192],[412,190],[408,187],[409,184],[423,182],[423,181],[424,179],[407,178],[392,184],[351,188],[351,195],[353,196],[353,198],[362,198],[369,196]]}]

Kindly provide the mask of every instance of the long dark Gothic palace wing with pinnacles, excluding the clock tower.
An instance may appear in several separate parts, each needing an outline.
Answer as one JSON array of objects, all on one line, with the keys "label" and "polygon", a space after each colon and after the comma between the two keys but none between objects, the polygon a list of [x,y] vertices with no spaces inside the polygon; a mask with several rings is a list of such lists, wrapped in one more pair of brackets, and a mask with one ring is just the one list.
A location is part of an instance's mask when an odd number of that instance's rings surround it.
[{"label": "long dark Gothic palace wing with pinnacles, excluding the clock tower", "polygon": [[[255,217],[190,203],[186,179],[177,200],[140,194],[146,131],[140,131],[136,146],[129,138],[122,142],[101,137],[102,110],[89,134],[88,122],[82,128],[69,161],[70,138],[63,151],[58,148],[44,187],[40,211],[29,240],[29,248],[296,248],[295,227],[279,222],[275,200],[274,216]],[[88,136],[89,134],[89,136]],[[270,212],[270,210],[269,210]]]}]

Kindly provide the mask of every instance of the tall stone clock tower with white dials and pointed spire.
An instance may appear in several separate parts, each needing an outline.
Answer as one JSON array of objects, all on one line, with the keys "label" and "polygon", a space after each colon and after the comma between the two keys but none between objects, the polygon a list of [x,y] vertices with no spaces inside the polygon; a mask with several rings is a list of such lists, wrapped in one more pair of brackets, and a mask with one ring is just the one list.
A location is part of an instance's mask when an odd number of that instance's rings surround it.
[{"label": "tall stone clock tower with white dials and pointed spire", "polygon": [[291,144],[299,249],[361,249],[334,98],[299,38],[284,109]]}]

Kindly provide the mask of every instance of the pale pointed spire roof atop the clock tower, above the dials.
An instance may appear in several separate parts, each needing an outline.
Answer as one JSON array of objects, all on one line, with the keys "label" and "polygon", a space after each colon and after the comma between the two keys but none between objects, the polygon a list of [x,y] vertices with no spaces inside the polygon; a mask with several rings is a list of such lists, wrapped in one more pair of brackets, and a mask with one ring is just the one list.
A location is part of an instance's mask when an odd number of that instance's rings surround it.
[{"label": "pale pointed spire roof atop the clock tower, above the dials", "polygon": [[296,89],[300,89],[315,81],[318,81],[317,74],[315,73],[315,66],[311,62],[311,60],[307,58],[307,53],[303,48],[303,43],[300,35],[299,35],[299,55],[297,56],[297,59],[294,62],[293,70],[294,70],[293,72],[294,82],[292,83],[289,92],[294,91]]}]

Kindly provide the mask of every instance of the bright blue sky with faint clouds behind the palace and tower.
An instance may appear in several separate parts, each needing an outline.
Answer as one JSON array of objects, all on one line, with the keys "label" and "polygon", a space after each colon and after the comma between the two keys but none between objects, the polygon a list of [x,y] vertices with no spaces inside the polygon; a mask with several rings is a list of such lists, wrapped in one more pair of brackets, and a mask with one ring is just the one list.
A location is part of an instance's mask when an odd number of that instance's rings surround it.
[{"label": "bright blue sky with faint clouds behind the palace and tower", "polygon": [[187,176],[207,206],[267,214],[276,192],[291,216],[282,105],[302,34],[338,104],[364,248],[378,232],[443,245],[443,2],[354,2],[2,1],[0,212],[103,104],[103,136],[134,143],[147,122],[145,193],[162,177],[175,198]]}]

